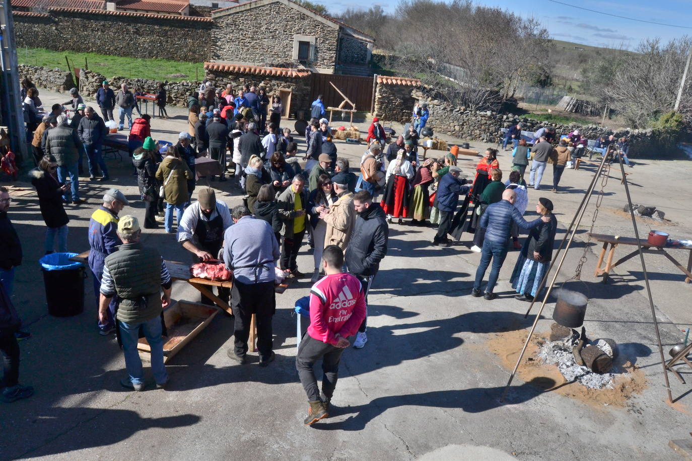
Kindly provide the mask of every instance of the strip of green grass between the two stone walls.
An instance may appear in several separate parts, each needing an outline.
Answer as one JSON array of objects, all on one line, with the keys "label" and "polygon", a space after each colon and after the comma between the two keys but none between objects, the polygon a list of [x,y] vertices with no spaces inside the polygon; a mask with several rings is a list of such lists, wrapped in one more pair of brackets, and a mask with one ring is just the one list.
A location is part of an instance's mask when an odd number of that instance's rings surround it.
[{"label": "strip of green grass between the two stone walls", "polygon": [[[127,78],[145,78],[152,80],[199,80],[204,77],[204,68],[201,62],[177,62],[167,59],[143,59],[121,56],[98,55],[96,53],[73,53],[71,51],[52,51],[43,48],[18,48],[17,60],[19,64],[30,66],[42,66],[47,68],[61,68],[68,70],[67,57],[70,66],[84,68],[84,59],[89,70],[100,73],[104,77],[114,76]],[[69,69],[72,70],[72,69]],[[187,77],[170,77],[173,74],[185,74]]]}]

